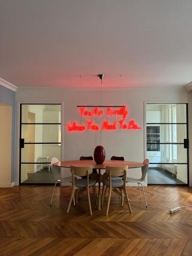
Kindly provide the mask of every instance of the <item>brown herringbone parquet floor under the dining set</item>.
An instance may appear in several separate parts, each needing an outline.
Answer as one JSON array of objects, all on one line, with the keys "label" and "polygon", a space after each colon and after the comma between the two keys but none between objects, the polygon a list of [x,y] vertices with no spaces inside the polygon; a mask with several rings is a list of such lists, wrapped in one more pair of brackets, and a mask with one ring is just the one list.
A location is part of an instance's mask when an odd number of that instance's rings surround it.
[{"label": "brown herringbone parquet floor under the dining set", "polygon": [[[86,194],[66,213],[70,187],[0,188],[0,255],[192,255],[192,207],[173,215],[168,209],[192,204],[192,188],[147,187],[148,204],[138,188],[129,187],[133,214],[113,194],[109,216],[106,199],[89,216]],[[91,190],[90,190],[91,191]],[[91,191],[92,192],[92,191]],[[107,193],[106,193],[106,196]]]}]

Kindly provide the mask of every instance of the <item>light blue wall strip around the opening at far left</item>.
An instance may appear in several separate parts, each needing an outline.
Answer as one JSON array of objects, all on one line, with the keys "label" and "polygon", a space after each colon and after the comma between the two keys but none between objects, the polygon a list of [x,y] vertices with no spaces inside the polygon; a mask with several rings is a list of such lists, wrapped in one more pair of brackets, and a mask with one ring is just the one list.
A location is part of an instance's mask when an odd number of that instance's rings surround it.
[{"label": "light blue wall strip around the opening at far left", "polygon": [[11,152],[11,182],[14,181],[15,169],[15,92],[1,86],[0,84],[0,102],[12,106],[12,152]]}]

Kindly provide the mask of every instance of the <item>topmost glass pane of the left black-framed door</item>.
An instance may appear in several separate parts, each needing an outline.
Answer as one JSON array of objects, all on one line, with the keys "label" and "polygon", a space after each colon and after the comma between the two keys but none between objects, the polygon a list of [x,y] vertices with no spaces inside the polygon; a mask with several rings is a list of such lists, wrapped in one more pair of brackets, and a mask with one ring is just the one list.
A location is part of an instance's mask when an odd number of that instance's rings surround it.
[{"label": "topmost glass pane of the left black-framed door", "polygon": [[22,123],[60,123],[61,105],[23,104]]}]

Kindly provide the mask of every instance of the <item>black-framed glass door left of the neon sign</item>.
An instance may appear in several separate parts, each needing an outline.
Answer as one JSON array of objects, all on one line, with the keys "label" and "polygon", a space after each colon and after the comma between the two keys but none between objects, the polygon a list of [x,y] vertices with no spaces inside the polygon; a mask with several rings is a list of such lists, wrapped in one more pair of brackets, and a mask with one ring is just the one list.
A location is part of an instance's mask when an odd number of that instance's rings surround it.
[{"label": "black-framed glass door left of the neon sign", "polygon": [[51,158],[60,153],[61,105],[20,104],[19,183],[54,183]]}]

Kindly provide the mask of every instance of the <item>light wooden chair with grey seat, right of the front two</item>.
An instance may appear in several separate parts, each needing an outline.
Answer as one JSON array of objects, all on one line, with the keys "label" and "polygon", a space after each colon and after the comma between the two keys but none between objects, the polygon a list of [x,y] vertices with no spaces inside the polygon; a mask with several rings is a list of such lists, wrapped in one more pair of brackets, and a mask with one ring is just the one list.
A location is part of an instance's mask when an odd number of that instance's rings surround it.
[{"label": "light wooden chair with grey seat, right of the front two", "polygon": [[[109,198],[108,198],[108,205],[106,208],[106,215],[108,215],[109,212],[109,206],[110,206],[110,200],[111,200],[111,194],[112,190],[114,188],[118,188],[121,191],[121,202],[123,199],[122,192],[125,195],[125,199],[127,202],[127,207],[129,209],[130,214],[132,213],[131,205],[127,196],[126,192],[126,173],[128,171],[128,166],[121,166],[121,167],[116,167],[116,166],[106,166],[106,174],[109,175],[109,179],[103,180],[103,188],[102,188],[102,201],[101,205],[103,204],[103,197],[104,197],[104,190],[105,187],[109,187]],[[123,176],[123,179],[118,179],[118,180],[113,180],[112,178],[115,176]]]}]

